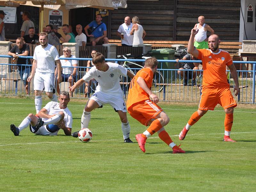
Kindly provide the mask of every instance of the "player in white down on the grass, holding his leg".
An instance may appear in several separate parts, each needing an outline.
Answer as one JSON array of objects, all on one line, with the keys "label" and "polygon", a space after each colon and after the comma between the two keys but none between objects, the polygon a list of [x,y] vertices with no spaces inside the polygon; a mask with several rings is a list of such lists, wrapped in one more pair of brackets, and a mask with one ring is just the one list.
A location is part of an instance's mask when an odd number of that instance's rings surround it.
[{"label": "player in white down on the grass, holding his leg", "polygon": [[60,103],[55,101],[47,103],[37,114],[38,117],[28,114],[18,127],[11,124],[11,131],[18,136],[20,131],[29,125],[30,131],[36,135],[57,135],[60,129],[63,129],[65,135],[71,135],[73,119],[67,107],[69,100],[68,92],[60,92]]}]

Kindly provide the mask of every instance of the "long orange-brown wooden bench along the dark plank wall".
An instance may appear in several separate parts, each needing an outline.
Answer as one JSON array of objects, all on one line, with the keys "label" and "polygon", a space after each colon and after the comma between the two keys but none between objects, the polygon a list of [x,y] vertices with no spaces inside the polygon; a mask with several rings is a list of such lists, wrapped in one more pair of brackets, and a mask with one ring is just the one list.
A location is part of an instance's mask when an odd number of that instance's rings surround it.
[{"label": "long orange-brown wooden bench along the dark plank wall", "polygon": [[[121,46],[120,39],[108,39],[108,43],[117,44]],[[159,49],[159,48],[172,48],[174,44],[183,44],[185,47],[188,47],[188,41],[149,41],[144,40],[144,44],[151,44],[152,49]],[[238,50],[242,49],[241,42],[220,42],[219,45],[220,49],[228,51],[229,54],[233,56],[238,56]]]}]

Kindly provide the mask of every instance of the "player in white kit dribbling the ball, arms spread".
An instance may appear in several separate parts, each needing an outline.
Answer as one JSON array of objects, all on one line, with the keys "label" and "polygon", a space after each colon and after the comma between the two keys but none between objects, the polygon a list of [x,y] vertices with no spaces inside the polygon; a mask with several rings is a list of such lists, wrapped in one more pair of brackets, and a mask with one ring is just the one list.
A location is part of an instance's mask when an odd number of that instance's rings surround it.
[{"label": "player in white kit dribbling the ball, arms spread", "polygon": [[[117,63],[106,63],[105,58],[101,53],[94,54],[92,63],[94,66],[85,74],[85,76],[78,80],[72,87],[69,87],[70,91],[74,92],[76,88],[93,78],[99,83],[95,93],[84,107],[84,112],[81,118],[81,129],[88,128],[91,119],[91,111],[93,109],[101,108],[103,104],[109,104],[118,113],[122,122],[124,142],[132,143],[129,137],[131,127],[126,116],[127,109],[123,99],[123,92],[119,84],[119,78],[120,75],[128,75],[130,78],[133,78],[134,75]],[[78,132],[73,132],[71,135],[73,137],[78,137]]]}]

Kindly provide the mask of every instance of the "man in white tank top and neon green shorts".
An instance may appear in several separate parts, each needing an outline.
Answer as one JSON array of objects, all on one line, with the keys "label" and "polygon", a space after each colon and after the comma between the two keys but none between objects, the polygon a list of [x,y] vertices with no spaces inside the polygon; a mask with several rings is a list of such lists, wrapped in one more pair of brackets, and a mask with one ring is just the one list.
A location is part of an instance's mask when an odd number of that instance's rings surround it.
[{"label": "man in white tank top and neon green shorts", "polygon": [[206,36],[207,31],[211,32],[211,35],[214,34],[214,30],[207,24],[204,23],[204,16],[198,17],[198,22],[194,28],[198,29],[198,33],[194,39],[194,46],[196,49],[208,49],[208,39]]}]

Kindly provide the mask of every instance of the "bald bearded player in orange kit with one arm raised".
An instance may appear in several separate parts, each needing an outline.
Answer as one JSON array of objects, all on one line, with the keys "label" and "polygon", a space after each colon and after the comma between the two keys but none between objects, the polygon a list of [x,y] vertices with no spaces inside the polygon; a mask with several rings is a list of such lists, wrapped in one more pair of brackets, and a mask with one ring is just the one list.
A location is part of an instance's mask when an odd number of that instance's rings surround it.
[{"label": "bald bearded player in orange kit with one arm raised", "polygon": [[201,100],[198,110],[192,114],[187,125],[180,132],[179,139],[185,139],[189,128],[195,124],[208,110],[214,110],[219,103],[225,113],[224,120],[224,141],[236,142],[230,138],[230,131],[233,124],[233,112],[237,106],[234,97],[231,94],[226,76],[226,66],[235,81],[235,96],[240,92],[236,68],[228,52],[219,49],[220,38],[218,35],[211,35],[208,38],[210,49],[195,49],[193,40],[198,30],[191,30],[188,42],[188,52],[194,57],[201,59],[204,69],[203,88],[201,90]]}]

